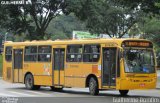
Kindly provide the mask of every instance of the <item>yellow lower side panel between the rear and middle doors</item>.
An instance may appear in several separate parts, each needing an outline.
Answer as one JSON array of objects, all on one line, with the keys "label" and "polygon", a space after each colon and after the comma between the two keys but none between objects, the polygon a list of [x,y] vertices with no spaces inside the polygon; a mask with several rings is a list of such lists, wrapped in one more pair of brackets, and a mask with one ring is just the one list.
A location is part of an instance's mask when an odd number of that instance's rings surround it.
[{"label": "yellow lower side panel between the rear and middle doors", "polygon": [[52,65],[51,63],[28,63],[24,62],[24,76],[32,73],[35,85],[52,85]]}]

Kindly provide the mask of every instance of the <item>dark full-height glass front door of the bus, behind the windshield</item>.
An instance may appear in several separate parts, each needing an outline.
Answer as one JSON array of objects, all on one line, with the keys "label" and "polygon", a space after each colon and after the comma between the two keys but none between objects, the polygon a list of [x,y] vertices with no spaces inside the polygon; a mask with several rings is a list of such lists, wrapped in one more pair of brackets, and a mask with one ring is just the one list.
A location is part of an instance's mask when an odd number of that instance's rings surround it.
[{"label": "dark full-height glass front door of the bus, behind the windshield", "polygon": [[102,86],[116,86],[117,48],[103,48]]}]

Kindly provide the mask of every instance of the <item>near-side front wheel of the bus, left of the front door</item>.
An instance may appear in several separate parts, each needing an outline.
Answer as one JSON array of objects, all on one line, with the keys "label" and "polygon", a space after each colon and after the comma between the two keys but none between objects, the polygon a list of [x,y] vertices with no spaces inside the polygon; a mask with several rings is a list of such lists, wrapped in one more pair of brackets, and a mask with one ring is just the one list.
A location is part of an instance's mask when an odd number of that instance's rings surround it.
[{"label": "near-side front wheel of the bus, left of the front door", "polygon": [[89,81],[89,91],[91,95],[98,95],[99,93],[98,83],[93,77]]}]

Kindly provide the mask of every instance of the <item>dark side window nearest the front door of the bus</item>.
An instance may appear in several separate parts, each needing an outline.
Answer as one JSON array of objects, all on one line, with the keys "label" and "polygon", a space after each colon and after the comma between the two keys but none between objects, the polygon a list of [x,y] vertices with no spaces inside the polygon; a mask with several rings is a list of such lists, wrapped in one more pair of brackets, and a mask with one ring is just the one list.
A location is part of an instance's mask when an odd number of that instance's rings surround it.
[{"label": "dark side window nearest the front door of the bus", "polygon": [[98,62],[100,58],[100,45],[84,45],[83,62]]}]

